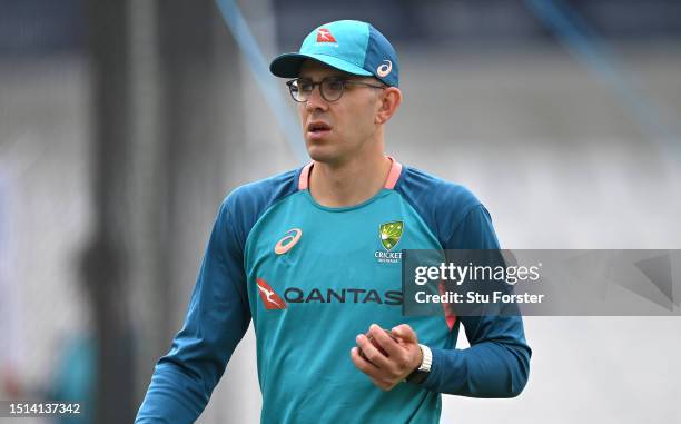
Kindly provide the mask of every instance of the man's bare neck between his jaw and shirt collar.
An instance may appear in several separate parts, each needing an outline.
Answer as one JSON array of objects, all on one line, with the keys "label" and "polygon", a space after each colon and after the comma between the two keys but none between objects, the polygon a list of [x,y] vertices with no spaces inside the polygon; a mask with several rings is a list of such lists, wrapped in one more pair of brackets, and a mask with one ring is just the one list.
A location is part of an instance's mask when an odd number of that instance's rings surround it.
[{"label": "man's bare neck between his jaw and shirt collar", "polygon": [[358,205],[384,187],[391,165],[383,154],[357,157],[343,164],[315,161],[309,176],[309,193],[323,206]]}]

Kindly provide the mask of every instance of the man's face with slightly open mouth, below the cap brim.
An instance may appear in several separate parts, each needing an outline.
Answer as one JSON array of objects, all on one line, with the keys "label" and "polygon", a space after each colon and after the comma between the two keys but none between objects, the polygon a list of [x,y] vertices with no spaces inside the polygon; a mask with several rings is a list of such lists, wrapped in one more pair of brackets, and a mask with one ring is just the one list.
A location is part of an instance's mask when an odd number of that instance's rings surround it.
[{"label": "man's face with slightly open mouth, below the cap brim", "polygon": [[[327,77],[339,77],[378,85],[372,78],[351,76],[313,60],[303,63],[298,77],[314,82]],[[381,91],[348,85],[340,99],[329,102],[322,97],[319,86],[315,87],[307,102],[298,105],[305,145],[310,158],[320,162],[338,164],[365,151],[378,128],[376,112]]]}]

